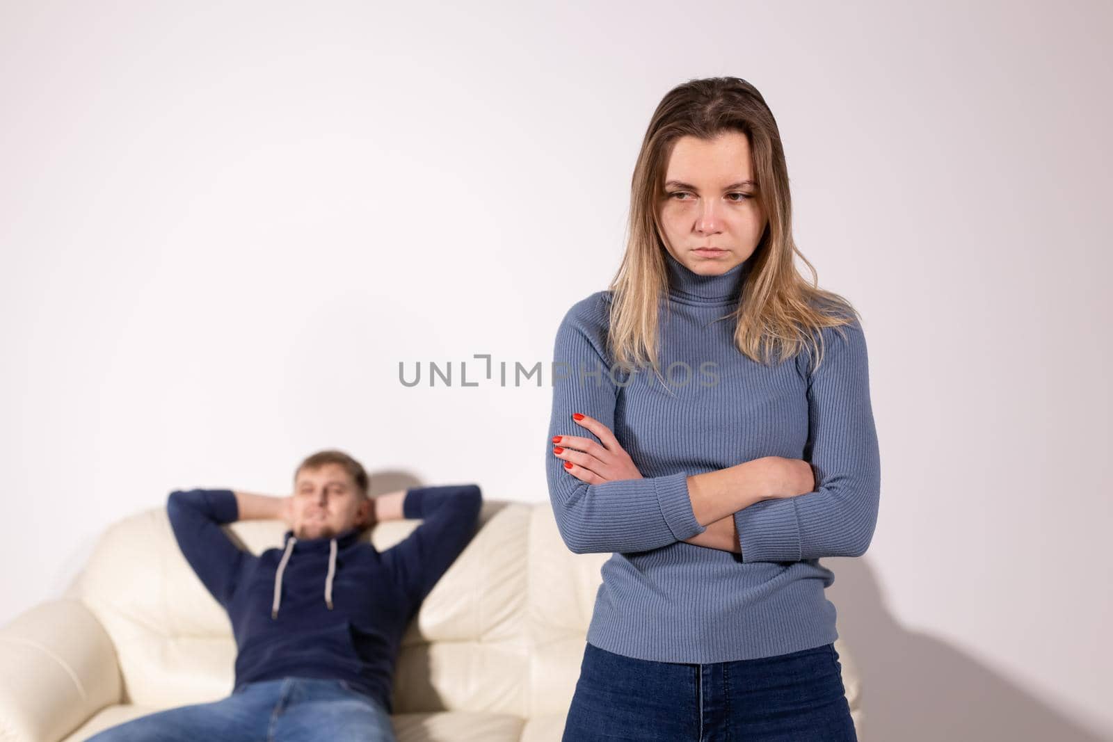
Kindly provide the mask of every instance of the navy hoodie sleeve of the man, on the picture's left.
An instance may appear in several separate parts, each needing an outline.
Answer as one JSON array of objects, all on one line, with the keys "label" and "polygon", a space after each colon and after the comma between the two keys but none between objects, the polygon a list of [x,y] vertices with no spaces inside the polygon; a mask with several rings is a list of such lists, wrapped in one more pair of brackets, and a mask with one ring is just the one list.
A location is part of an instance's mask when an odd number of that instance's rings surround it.
[{"label": "navy hoodie sleeve of the man, on the picture's left", "polygon": [[166,501],[166,513],[189,566],[213,597],[227,605],[246,557],[220,527],[239,517],[235,493],[230,489],[176,489]]}]

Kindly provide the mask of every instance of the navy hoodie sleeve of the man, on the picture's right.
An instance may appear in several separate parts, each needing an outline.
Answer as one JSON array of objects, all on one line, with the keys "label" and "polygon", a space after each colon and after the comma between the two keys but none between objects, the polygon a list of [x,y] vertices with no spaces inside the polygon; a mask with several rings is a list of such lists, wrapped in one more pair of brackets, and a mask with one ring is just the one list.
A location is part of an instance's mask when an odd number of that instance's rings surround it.
[{"label": "navy hoodie sleeve of the man, on the picture's right", "polygon": [[412,487],[402,515],[423,523],[391,548],[403,583],[420,603],[475,534],[483,495],[474,484]]}]

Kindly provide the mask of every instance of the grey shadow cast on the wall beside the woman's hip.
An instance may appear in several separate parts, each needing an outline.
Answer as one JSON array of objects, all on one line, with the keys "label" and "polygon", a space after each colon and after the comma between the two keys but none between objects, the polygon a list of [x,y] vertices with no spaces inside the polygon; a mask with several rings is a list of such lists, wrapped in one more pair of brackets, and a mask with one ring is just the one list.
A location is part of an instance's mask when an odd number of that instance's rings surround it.
[{"label": "grey shadow cast on the wall beside the woman's hip", "polygon": [[861,677],[860,742],[1103,742],[1046,702],[947,643],[898,624],[864,558],[824,560]]}]

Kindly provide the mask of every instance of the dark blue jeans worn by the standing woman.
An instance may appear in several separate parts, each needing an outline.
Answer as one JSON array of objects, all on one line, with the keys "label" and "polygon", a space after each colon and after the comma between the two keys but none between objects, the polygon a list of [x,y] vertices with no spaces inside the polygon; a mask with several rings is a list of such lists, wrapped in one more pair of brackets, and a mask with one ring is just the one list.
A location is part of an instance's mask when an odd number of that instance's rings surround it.
[{"label": "dark blue jeans worn by the standing woman", "polygon": [[857,742],[834,644],[758,660],[651,662],[588,644],[564,742]]}]

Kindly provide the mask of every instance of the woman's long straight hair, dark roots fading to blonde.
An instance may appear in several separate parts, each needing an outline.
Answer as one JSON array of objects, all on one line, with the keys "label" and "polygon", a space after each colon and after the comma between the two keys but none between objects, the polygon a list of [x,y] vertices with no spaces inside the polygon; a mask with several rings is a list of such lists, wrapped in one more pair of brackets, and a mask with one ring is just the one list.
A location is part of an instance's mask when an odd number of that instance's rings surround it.
[{"label": "woman's long straight hair, dark roots fading to blonde", "polygon": [[[626,255],[611,281],[609,352],[615,364],[658,363],[658,306],[668,297],[668,266],[658,209],[672,147],[683,136],[713,139],[740,131],[749,139],[757,198],[769,222],[754,255],[738,307],[735,345],[758,363],[812,349],[823,359],[823,327],[848,325],[858,317],[849,301],[820,289],[815,267],[792,240],[788,168],[777,121],[757,88],[739,78],[690,80],[658,105],[638,154],[630,194]],[[811,271],[808,283],[792,255]],[[840,332],[840,330],[839,330]],[[814,367],[815,367],[814,366]]]}]

